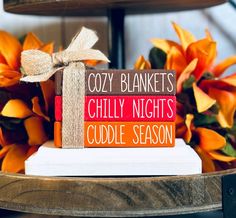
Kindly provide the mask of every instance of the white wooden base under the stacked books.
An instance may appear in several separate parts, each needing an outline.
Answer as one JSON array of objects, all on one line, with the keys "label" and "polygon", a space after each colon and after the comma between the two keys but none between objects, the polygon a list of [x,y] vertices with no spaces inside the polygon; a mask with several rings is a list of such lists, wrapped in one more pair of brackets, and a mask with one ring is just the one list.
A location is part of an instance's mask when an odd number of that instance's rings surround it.
[{"label": "white wooden base under the stacked books", "polygon": [[182,139],[172,148],[60,149],[52,141],[25,161],[41,176],[155,176],[201,173],[201,159]]}]

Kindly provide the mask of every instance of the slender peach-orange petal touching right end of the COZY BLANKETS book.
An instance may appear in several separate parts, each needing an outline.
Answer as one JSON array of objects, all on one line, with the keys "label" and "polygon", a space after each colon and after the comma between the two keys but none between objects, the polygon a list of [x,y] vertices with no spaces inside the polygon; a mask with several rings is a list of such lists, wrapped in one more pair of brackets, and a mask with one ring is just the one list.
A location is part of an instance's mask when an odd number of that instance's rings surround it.
[{"label": "slender peach-orange petal touching right end of the COZY BLANKETS book", "polygon": [[176,85],[177,93],[180,93],[182,91],[184,81],[186,81],[190,77],[191,73],[195,70],[197,62],[198,62],[197,58],[193,59],[184,69],[184,71],[179,75]]}]

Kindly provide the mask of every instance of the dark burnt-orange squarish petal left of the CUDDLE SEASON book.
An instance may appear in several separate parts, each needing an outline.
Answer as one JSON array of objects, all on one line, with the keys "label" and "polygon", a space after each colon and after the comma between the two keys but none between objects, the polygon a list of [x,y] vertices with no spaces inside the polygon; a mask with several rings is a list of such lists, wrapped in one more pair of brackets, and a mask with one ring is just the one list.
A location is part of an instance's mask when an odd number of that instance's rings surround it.
[{"label": "dark burnt-orange squarish petal left of the CUDDLE SEASON book", "polygon": [[41,118],[35,116],[29,117],[24,121],[24,125],[28,134],[29,145],[41,145],[47,141],[48,137]]}]

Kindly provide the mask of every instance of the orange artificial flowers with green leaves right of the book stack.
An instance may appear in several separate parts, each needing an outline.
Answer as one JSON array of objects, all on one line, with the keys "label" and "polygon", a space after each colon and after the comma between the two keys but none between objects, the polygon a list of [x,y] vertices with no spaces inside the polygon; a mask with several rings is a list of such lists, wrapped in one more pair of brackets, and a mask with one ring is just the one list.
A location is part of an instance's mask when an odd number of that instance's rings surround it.
[{"label": "orange artificial flowers with green leaves right of the book stack", "polygon": [[174,69],[177,77],[176,137],[192,146],[203,172],[236,166],[236,73],[222,75],[236,56],[215,65],[217,43],[210,32],[197,40],[173,23],[180,43],[154,38],[149,60],[140,56],[135,69]]}]

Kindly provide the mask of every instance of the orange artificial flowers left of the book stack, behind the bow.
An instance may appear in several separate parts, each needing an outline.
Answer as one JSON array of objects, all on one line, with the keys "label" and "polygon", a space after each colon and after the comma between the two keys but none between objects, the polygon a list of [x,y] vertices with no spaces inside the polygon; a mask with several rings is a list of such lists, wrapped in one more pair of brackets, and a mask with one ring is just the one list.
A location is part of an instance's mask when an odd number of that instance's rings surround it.
[{"label": "orange artificial flowers left of the book stack, behind the bow", "polygon": [[21,52],[39,49],[52,53],[28,33],[23,44],[0,31],[0,159],[1,171],[24,172],[24,161],[52,137],[54,82],[21,83]]}]

